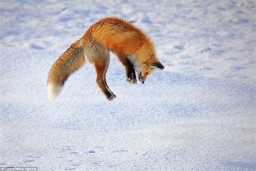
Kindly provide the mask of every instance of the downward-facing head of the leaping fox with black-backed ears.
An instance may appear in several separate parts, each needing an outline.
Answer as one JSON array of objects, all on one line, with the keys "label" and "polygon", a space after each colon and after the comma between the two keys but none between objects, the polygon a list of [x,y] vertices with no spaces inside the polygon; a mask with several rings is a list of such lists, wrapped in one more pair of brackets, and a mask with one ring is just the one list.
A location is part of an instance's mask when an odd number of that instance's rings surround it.
[{"label": "downward-facing head of the leaping fox with black-backed ears", "polygon": [[139,67],[136,67],[139,81],[144,84],[147,76],[149,76],[149,74],[151,74],[156,69],[160,69],[160,70],[164,69],[164,66],[158,60],[155,60],[155,61],[149,60],[141,63]]}]

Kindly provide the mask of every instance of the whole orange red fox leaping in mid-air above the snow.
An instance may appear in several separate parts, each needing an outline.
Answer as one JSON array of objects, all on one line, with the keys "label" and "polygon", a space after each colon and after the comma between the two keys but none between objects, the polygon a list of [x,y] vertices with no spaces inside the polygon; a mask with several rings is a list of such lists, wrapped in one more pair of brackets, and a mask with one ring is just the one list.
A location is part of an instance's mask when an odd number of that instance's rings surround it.
[{"label": "whole orange red fox leaping in mid-air above the snow", "polygon": [[126,80],[131,84],[137,83],[136,72],[139,81],[144,84],[147,76],[154,70],[164,69],[156,57],[153,42],[146,33],[122,18],[102,18],[92,24],[83,37],[71,44],[52,65],[47,82],[49,100],[59,95],[70,74],[80,69],[86,59],[94,64],[96,83],[106,98],[116,98],[106,83],[110,51],[124,65]]}]

